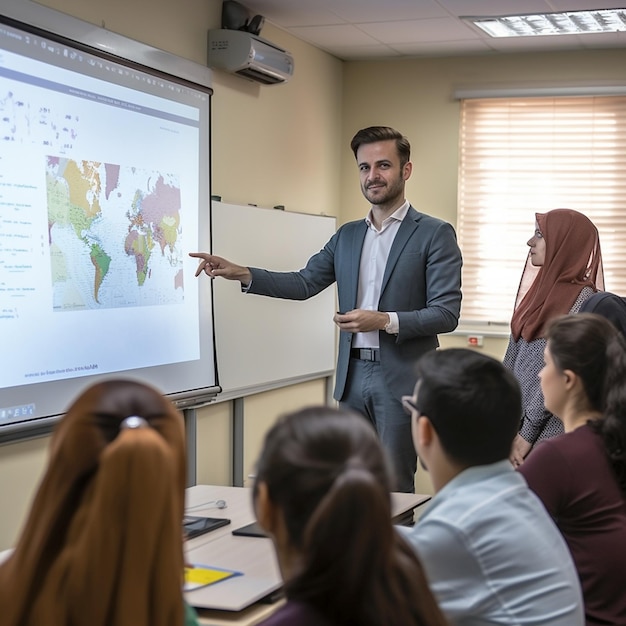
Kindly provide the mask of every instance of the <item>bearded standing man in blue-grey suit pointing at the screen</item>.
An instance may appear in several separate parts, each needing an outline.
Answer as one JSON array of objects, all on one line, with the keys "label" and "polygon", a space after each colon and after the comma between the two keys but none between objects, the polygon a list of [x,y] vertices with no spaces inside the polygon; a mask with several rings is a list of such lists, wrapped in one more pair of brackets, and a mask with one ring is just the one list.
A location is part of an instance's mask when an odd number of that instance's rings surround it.
[{"label": "bearded standing man in blue-grey suit pointing at the screen", "polygon": [[247,293],[305,300],[337,283],[339,355],[334,397],[366,416],[393,462],[399,491],[415,490],[417,457],[401,397],[417,359],[456,328],[461,252],[453,227],[405,199],[411,147],[387,126],[360,130],[350,144],[371,208],[341,226],[299,272],[236,265],[202,252],[196,272],[238,280]]}]

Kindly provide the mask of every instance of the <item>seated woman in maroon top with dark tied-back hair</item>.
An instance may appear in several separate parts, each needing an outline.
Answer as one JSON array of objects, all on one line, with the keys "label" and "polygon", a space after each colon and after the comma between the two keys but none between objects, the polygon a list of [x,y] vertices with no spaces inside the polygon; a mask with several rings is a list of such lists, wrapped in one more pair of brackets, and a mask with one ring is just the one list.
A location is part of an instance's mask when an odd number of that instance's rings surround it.
[{"label": "seated woman in maroon top with dark tied-back hair", "polygon": [[587,624],[626,624],[626,345],[604,317],[547,328],[541,388],[565,434],[520,471],[567,541]]}]

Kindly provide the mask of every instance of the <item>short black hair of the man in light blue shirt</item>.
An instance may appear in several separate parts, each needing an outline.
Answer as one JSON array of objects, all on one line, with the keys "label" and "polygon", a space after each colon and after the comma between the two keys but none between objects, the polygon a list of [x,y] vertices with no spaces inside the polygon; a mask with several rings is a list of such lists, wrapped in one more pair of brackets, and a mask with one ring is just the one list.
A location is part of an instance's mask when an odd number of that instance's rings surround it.
[{"label": "short black hair of the man in light blue shirt", "polygon": [[472,467],[509,458],[522,414],[515,376],[467,348],[433,350],[417,363],[417,409],[448,455]]}]

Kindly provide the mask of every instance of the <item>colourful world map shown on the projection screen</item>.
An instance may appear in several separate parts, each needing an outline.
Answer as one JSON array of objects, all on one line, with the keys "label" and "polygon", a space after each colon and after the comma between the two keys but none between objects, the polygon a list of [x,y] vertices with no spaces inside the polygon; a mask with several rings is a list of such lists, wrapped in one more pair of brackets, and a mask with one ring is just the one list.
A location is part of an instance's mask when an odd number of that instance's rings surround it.
[{"label": "colourful world map shown on the projection screen", "polygon": [[48,156],[46,189],[55,311],[182,302],[176,176]]}]

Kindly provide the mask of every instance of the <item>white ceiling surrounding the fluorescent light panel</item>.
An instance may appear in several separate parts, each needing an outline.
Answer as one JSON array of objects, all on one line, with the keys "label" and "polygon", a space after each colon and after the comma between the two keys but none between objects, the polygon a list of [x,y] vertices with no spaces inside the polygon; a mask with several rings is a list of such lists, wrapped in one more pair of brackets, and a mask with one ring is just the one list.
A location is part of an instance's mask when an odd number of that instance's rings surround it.
[{"label": "white ceiling surrounding the fluorescent light panel", "polygon": [[[626,48],[626,32],[492,38],[460,16],[625,8],[626,0],[240,0],[344,60]],[[263,36],[261,31],[261,36]]]}]

